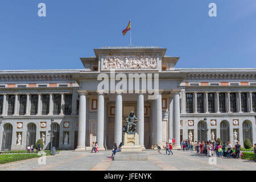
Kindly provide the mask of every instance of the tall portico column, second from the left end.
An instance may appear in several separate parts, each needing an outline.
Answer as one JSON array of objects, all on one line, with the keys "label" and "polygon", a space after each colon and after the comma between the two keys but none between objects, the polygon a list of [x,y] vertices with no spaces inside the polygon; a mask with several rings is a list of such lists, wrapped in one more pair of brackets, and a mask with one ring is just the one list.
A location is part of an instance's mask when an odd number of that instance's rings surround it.
[{"label": "tall portico column, second from the left end", "polygon": [[97,142],[98,149],[105,150],[104,148],[104,93],[98,92],[98,104],[97,104]]}]

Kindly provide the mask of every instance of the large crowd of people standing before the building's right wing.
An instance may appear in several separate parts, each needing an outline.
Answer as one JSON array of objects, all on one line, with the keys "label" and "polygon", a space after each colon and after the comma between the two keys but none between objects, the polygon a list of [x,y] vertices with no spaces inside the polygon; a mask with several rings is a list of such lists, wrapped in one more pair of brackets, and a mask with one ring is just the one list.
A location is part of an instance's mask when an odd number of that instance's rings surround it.
[{"label": "large crowd of people standing before the building's right wing", "polygon": [[226,157],[241,159],[243,155],[239,142],[237,142],[234,147],[232,147],[231,142],[228,142],[227,144],[223,142],[223,144],[221,144],[217,141],[196,141],[194,143],[193,141],[183,140],[180,144],[183,151],[193,151],[193,147],[195,146],[197,153],[205,154],[207,157],[213,156],[214,152],[216,156],[220,158]]}]

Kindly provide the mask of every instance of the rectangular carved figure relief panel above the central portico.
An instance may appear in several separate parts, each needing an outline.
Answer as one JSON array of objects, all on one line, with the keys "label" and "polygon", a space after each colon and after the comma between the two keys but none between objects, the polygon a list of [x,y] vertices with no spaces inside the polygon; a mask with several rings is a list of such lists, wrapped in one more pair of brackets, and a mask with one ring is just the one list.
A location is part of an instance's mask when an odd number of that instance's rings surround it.
[{"label": "rectangular carved figure relief panel above the central portico", "polygon": [[156,69],[156,55],[104,56],[104,69]]}]

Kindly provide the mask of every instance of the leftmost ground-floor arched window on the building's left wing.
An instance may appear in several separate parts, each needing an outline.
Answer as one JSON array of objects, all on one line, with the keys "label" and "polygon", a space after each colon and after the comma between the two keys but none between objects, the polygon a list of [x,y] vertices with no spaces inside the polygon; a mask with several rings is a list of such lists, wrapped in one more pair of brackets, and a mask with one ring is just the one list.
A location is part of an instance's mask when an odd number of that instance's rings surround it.
[{"label": "leftmost ground-floor arched window on the building's left wing", "polygon": [[2,151],[11,150],[12,136],[13,136],[13,126],[10,123],[6,123],[3,126]]}]

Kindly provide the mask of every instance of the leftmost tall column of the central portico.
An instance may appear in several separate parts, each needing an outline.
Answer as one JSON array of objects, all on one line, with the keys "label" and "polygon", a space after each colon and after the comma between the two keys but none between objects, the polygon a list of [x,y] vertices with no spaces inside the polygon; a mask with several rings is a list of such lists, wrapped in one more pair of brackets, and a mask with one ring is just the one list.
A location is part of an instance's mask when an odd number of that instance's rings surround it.
[{"label": "leftmost tall column of the central portico", "polygon": [[79,131],[78,142],[76,150],[86,150],[85,136],[86,136],[86,91],[78,90],[79,97]]}]

